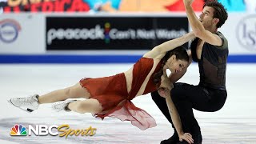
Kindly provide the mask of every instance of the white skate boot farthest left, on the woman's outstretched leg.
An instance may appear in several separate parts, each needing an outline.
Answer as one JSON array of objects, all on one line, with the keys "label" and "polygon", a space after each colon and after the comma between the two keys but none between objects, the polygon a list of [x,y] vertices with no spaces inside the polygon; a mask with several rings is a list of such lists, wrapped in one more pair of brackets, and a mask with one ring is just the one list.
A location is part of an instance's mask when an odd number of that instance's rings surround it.
[{"label": "white skate boot farthest left, on the woman's outstretched leg", "polygon": [[8,102],[27,112],[37,110],[39,106],[38,94],[34,94],[33,96],[30,96],[28,98],[10,98]]}]

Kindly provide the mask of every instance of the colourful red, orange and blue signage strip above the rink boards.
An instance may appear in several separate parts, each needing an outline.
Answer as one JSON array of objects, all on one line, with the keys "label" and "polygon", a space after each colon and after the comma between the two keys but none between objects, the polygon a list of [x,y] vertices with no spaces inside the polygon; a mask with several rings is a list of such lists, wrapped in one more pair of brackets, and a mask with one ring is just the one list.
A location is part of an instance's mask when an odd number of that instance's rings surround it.
[{"label": "colourful red, orange and blue signage strip above the rink boards", "polygon": [[[201,11],[207,0],[194,0]],[[208,0],[209,1],[209,0]],[[218,0],[228,12],[256,12],[256,0]],[[0,12],[182,12],[183,0],[0,0]]]}]

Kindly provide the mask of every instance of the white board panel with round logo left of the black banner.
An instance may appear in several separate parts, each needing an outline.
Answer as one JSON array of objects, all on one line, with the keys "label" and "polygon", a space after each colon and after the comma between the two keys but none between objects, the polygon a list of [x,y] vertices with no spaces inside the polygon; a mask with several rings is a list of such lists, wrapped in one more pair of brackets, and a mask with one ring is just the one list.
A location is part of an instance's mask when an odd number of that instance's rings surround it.
[{"label": "white board panel with round logo left of the black banner", "polygon": [[44,22],[40,14],[2,14],[0,54],[44,53]]}]

